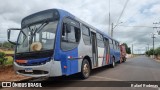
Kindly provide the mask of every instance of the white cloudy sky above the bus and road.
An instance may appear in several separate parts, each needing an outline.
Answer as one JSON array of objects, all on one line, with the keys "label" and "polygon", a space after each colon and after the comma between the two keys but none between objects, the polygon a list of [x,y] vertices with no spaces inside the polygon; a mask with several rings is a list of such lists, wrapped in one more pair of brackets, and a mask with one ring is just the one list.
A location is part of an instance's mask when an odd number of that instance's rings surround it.
[{"label": "white cloudy sky above the bus and road", "polygon": [[[110,0],[111,23],[116,24],[126,1]],[[7,40],[8,28],[20,27],[23,17],[51,8],[67,10],[108,34],[109,0],[0,0],[0,2],[0,41]],[[134,44],[135,53],[138,53],[138,49],[145,50],[147,44],[151,48],[151,33],[156,33],[158,29],[149,27],[155,26],[153,22],[160,22],[159,19],[160,0],[129,0],[119,20],[123,23],[114,29],[114,38],[120,42],[126,42],[129,46]],[[156,35],[156,37],[155,44],[158,47],[160,36]]]}]

